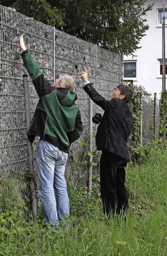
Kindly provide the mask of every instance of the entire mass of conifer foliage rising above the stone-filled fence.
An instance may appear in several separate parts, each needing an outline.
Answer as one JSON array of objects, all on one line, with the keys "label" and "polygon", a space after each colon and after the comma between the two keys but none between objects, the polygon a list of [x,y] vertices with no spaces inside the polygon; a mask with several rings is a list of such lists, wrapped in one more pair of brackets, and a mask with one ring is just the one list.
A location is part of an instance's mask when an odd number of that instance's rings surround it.
[{"label": "entire mass of conifer foliage rising above the stone-filled fence", "polygon": [[[4,1],[4,0],[2,0]],[[13,0],[8,2],[8,6]],[[17,0],[16,11],[121,55],[133,54],[149,26],[146,0]]]}]

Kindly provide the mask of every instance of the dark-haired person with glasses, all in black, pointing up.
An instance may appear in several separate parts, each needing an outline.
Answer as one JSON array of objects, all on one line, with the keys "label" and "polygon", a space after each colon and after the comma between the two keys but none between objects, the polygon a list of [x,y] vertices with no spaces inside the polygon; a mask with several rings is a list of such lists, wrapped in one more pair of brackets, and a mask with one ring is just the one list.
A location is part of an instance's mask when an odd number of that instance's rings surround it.
[{"label": "dark-haired person with glasses, all in black, pointing up", "polygon": [[127,139],[133,126],[133,116],[128,102],[132,98],[133,91],[130,86],[120,84],[114,89],[111,100],[106,100],[88,81],[86,68],[85,72],[81,73],[81,77],[86,93],[104,110],[97,129],[96,147],[97,150],[102,150],[100,188],[103,211],[110,217],[114,213],[124,213],[128,208],[124,167],[129,161]]}]

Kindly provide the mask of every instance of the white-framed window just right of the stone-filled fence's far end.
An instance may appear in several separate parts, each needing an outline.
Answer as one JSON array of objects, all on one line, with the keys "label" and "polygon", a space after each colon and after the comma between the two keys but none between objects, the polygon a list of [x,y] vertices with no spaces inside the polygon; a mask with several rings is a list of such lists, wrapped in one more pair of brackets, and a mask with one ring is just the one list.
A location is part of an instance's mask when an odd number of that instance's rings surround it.
[{"label": "white-framed window just right of the stone-filled fence's far end", "polygon": [[136,78],[136,61],[124,61],[124,80]]}]

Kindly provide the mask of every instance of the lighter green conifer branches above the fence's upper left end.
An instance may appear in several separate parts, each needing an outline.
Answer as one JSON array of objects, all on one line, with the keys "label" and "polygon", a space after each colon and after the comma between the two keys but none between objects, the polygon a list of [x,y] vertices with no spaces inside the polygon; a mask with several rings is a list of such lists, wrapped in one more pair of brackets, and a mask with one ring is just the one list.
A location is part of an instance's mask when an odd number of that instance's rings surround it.
[{"label": "lighter green conifer branches above the fence's upper left end", "polygon": [[50,26],[62,26],[64,10],[51,7],[46,0],[17,0],[12,5],[19,13]]}]

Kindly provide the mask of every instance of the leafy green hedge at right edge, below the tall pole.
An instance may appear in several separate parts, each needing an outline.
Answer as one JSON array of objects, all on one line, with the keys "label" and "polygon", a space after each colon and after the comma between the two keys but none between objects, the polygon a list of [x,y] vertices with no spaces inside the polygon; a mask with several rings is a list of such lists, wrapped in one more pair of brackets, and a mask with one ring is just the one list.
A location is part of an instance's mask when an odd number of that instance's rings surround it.
[{"label": "leafy green hedge at right edge, below the tall pole", "polygon": [[159,133],[167,139],[167,90],[161,93],[161,117]]}]

